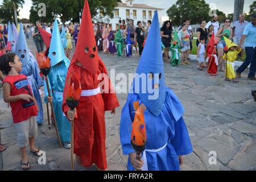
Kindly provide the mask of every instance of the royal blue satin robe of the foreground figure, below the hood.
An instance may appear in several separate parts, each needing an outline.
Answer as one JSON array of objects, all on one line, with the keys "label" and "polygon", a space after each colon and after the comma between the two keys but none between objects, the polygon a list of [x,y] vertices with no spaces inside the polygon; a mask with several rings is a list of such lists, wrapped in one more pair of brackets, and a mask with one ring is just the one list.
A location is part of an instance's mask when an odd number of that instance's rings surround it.
[{"label": "royal blue satin robe of the foreground figure, below the hood", "polygon": [[[129,94],[127,102],[122,110],[120,124],[120,139],[124,155],[135,152],[131,146],[131,123],[134,120],[133,102],[141,100],[137,94]],[[188,130],[183,120],[184,108],[175,93],[166,87],[166,100],[162,112],[155,116],[148,109],[144,111],[146,123],[147,143],[144,151],[149,171],[177,171],[179,167],[178,155],[187,155],[193,151]],[[166,146],[166,147],[164,147]],[[146,152],[146,153],[145,153]],[[146,163],[146,162],[144,162]],[[127,169],[134,171],[134,167],[128,159]]]}]

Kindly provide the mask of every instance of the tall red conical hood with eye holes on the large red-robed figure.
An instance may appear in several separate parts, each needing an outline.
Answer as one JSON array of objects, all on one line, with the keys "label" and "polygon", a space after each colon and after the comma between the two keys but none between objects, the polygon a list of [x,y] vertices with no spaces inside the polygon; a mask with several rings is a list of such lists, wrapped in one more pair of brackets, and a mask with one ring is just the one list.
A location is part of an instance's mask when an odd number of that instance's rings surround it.
[{"label": "tall red conical hood with eye holes on the large red-robed figure", "polygon": [[72,57],[71,64],[79,61],[88,72],[95,74],[98,71],[98,59],[92,18],[90,16],[88,0],[85,0],[76,51]]}]

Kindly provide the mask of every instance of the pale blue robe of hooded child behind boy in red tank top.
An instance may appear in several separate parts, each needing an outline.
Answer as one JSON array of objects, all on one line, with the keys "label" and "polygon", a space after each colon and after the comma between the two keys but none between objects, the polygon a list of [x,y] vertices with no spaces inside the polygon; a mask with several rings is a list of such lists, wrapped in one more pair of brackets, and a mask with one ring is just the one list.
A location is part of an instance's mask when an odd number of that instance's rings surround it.
[{"label": "pale blue robe of hooded child behind boy in red tank top", "polygon": [[43,123],[44,113],[43,113],[42,99],[39,93],[39,86],[43,86],[44,82],[39,73],[40,71],[39,71],[38,63],[32,56],[30,56],[28,63],[22,66],[22,71],[20,72],[20,74],[26,75],[28,77],[28,82],[30,83],[34,97],[39,107],[39,112],[36,117],[36,122]]}]

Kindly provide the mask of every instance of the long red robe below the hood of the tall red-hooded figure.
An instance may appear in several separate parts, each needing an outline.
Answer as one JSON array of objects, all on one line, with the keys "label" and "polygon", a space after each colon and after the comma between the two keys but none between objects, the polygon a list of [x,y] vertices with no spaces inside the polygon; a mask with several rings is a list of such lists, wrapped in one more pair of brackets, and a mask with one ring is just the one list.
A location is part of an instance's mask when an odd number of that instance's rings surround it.
[{"label": "long red robe below the hood of the tall red-hooded figure", "polygon": [[[82,90],[98,88],[101,82],[101,80],[97,80],[98,75],[101,73],[108,75],[108,71],[100,59],[98,71],[95,75],[79,65],[71,64],[67,78],[73,71],[80,76]],[[79,106],[76,108],[77,118],[74,120],[74,153],[80,156],[83,166],[90,167],[95,163],[102,170],[108,168],[105,146],[105,111],[113,110],[119,106],[115,93],[110,93],[112,84],[109,77],[108,81],[109,93],[97,94],[96,96],[81,96]],[[68,84],[66,82],[63,93],[64,98],[66,98],[67,92]],[[63,111],[66,115],[68,110],[69,107],[63,100]]]}]

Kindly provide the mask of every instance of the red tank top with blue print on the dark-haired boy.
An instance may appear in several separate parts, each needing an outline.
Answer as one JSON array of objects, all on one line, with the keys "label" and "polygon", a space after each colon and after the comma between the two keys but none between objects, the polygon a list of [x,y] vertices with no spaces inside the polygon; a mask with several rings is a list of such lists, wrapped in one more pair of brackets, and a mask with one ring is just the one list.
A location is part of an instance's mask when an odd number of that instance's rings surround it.
[{"label": "red tank top with blue print on the dark-haired boy", "polygon": [[[28,83],[25,75],[8,75],[3,80],[3,84],[5,82],[11,85],[11,96],[17,96],[19,94],[29,94],[30,96],[33,96],[30,84]],[[16,102],[11,102],[10,106],[14,123],[19,123],[29,119],[32,116],[38,115],[35,102],[32,100],[30,100],[30,102],[18,100]]]}]

